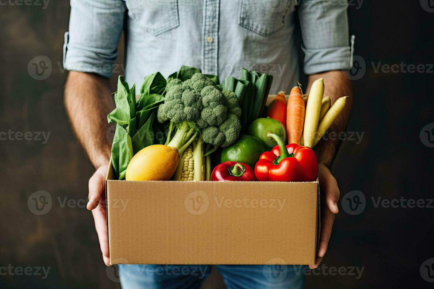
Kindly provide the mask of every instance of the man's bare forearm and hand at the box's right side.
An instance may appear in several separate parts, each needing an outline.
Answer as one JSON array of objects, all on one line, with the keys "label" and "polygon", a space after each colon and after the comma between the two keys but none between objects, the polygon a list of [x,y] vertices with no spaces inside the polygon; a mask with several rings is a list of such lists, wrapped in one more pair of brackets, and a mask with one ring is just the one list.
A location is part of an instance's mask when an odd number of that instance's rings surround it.
[{"label": "man's bare forearm and hand at the box's right side", "polygon": [[[324,78],[324,96],[329,95],[332,104],[342,96],[349,95],[347,98],[344,110],[336,118],[334,123],[330,126],[329,132],[334,131],[339,133],[345,130],[348,118],[352,107],[352,87],[349,78],[346,78],[343,71],[328,71],[309,76],[307,88],[309,89],[312,82],[318,78]],[[339,201],[339,188],[335,177],[330,172],[333,158],[339,146],[339,140],[320,140],[315,147],[318,152],[318,172],[319,172],[319,185],[321,186],[321,234],[319,236],[319,248],[316,257],[315,265],[309,266],[314,269],[319,266],[322,258],[327,251],[330,236],[332,234],[333,222],[335,221],[335,214],[338,213]]]}]

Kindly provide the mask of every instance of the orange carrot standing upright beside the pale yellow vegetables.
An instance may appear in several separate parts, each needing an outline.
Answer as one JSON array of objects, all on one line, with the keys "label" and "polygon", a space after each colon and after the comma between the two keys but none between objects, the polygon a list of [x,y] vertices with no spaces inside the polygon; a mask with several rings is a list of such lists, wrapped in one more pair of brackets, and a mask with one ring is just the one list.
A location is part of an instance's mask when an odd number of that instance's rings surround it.
[{"label": "orange carrot standing upright beside the pale yellow vegetables", "polygon": [[303,95],[298,86],[294,86],[289,93],[288,105],[286,107],[286,131],[288,132],[288,143],[300,144],[303,125],[304,113]]}]

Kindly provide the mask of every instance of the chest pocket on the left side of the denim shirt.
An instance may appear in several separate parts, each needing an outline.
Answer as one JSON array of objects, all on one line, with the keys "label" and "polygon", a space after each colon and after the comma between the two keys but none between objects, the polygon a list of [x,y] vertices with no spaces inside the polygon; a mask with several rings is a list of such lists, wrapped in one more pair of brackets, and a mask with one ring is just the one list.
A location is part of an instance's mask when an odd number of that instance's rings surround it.
[{"label": "chest pocket on the left side of the denim shirt", "polygon": [[179,26],[178,0],[125,0],[128,15],[154,36]]}]

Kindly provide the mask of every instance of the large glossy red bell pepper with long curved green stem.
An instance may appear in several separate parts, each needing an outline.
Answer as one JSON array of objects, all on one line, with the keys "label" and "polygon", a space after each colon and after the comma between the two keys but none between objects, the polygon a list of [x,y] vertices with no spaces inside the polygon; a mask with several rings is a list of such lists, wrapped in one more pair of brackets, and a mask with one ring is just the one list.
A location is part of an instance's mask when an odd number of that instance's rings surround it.
[{"label": "large glossy red bell pepper with long curved green stem", "polygon": [[267,137],[276,140],[271,152],[265,152],[256,162],[255,175],[259,181],[312,182],[318,176],[318,162],[313,149],[291,143],[285,146],[275,133]]}]

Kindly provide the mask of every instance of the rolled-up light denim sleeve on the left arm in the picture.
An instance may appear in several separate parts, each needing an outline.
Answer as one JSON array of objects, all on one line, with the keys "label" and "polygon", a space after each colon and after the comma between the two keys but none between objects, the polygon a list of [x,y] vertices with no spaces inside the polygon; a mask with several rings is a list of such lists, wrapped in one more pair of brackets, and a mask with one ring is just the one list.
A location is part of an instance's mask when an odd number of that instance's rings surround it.
[{"label": "rolled-up light denim sleeve on the left arm in the picture", "polygon": [[71,0],[63,67],[111,77],[124,15],[122,0]]}]

